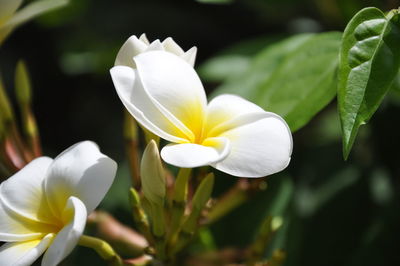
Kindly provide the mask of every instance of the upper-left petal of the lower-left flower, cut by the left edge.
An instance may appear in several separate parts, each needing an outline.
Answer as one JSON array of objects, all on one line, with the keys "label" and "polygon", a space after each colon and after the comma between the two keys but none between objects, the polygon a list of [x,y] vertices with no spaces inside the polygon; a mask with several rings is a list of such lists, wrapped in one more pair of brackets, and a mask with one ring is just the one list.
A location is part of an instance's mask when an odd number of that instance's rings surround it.
[{"label": "upper-left petal of the lower-left flower, cut by the left edge", "polygon": [[48,157],[37,158],[4,181],[0,185],[0,201],[21,216],[54,223],[43,191],[43,180],[52,162]]}]

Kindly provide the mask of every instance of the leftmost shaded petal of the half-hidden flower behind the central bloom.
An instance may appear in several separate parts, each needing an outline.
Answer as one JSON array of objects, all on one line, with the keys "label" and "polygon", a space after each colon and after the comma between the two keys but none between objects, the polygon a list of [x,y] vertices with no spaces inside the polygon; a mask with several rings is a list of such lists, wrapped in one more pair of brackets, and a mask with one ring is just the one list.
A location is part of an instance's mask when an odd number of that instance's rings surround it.
[{"label": "leftmost shaded petal of the half-hidden flower behind the central bloom", "polygon": [[[140,37],[142,38],[142,36]],[[132,35],[122,45],[121,49],[119,49],[114,65],[136,68],[133,57],[146,50],[147,46],[148,45],[144,41],[138,39],[135,35]]]}]

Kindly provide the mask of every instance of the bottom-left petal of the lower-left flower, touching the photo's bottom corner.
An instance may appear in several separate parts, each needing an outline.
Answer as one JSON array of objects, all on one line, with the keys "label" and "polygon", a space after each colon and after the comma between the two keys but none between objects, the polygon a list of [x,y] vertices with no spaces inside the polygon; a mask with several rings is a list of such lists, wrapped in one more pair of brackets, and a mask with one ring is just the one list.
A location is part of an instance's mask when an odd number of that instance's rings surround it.
[{"label": "bottom-left petal of the lower-left flower, touching the photo's bottom corner", "polygon": [[0,247],[0,265],[31,265],[43,254],[53,238],[54,234],[48,234],[43,239],[2,245]]}]

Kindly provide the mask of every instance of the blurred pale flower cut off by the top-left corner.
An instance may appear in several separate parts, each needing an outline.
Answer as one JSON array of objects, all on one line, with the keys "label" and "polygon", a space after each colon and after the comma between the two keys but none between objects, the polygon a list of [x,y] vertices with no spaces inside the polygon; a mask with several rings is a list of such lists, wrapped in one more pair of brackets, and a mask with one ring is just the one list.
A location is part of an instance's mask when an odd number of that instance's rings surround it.
[{"label": "blurred pale flower cut off by the top-left corner", "polygon": [[39,0],[18,10],[22,2],[23,0],[0,0],[0,43],[22,23],[67,4],[68,0]]}]

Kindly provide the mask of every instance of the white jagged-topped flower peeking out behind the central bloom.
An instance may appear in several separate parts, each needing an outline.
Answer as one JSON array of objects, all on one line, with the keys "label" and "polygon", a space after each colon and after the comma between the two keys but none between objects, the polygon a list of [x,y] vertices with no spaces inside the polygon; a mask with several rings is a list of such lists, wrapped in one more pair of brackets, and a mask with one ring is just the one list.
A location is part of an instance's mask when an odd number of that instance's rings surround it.
[{"label": "white jagged-topped flower peeking out behind the central bloom", "polygon": [[119,50],[117,58],[115,59],[115,65],[136,68],[135,61],[133,61],[132,58],[140,53],[149,51],[167,51],[179,56],[191,66],[194,66],[197,48],[192,47],[184,52],[171,37],[166,38],[162,42],[160,42],[160,40],[155,40],[150,43],[144,33],[140,35],[139,39],[135,35],[132,35]]}]

